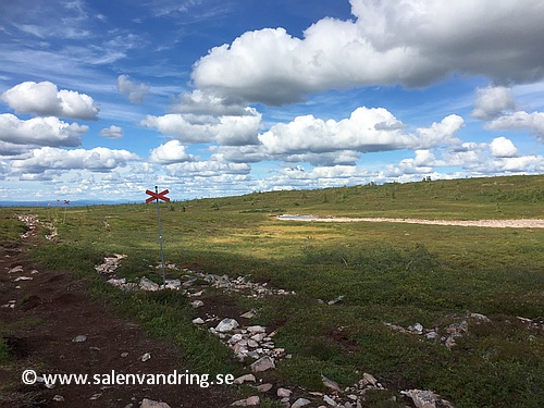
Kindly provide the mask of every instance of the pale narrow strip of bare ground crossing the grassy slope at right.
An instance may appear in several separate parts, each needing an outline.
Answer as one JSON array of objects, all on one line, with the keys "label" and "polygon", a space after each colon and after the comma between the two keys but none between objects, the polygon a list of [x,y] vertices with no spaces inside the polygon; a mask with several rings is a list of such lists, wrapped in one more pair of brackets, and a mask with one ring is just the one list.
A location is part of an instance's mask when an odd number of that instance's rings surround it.
[{"label": "pale narrow strip of bare ground crossing the grassy slope at right", "polygon": [[276,217],[283,221],[307,222],[401,222],[407,224],[457,225],[457,226],[484,226],[492,228],[544,228],[544,220],[478,220],[478,221],[450,221],[450,220],[418,220],[418,219],[388,219],[388,218],[346,218],[322,215],[293,215]]}]

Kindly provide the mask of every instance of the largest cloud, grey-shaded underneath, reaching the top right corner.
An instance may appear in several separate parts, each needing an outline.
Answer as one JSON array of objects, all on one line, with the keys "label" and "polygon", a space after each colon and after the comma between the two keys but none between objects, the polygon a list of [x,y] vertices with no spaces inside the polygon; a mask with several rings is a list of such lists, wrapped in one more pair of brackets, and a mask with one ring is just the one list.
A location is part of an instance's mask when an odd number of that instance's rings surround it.
[{"label": "largest cloud, grey-shaded underneath, reaching the top right corner", "polygon": [[422,87],[453,73],[496,83],[544,77],[542,2],[351,0],[351,11],[355,21],[323,18],[302,38],[284,28],[244,33],[195,63],[193,85],[280,106],[331,88]]}]

